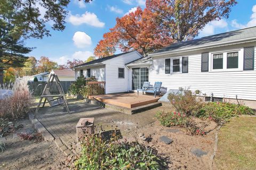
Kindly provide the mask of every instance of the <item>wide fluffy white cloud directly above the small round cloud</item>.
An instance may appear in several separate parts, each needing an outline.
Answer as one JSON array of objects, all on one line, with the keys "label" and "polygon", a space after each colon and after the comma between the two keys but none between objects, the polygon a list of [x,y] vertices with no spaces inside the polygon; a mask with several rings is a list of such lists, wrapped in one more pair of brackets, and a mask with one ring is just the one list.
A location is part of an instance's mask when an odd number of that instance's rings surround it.
[{"label": "wide fluffy white cloud directly above the small round cloud", "polygon": [[76,14],[72,15],[69,14],[68,22],[73,25],[81,25],[83,23],[92,25],[94,27],[104,27],[105,23],[99,21],[98,16],[91,12],[85,12],[82,15]]}]

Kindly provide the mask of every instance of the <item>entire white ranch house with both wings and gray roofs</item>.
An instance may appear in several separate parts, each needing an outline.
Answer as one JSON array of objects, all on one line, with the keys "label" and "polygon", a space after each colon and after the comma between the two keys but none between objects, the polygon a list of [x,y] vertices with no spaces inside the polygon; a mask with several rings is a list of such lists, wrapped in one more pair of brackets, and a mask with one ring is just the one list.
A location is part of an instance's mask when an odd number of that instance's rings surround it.
[{"label": "entire white ranch house with both wings and gray roofs", "polygon": [[[106,94],[162,82],[165,90],[190,88],[207,97],[242,99],[256,107],[256,27],[171,46],[142,57],[137,51],[100,58],[74,67],[76,78],[95,76]],[[87,73],[89,72],[90,73]]]}]

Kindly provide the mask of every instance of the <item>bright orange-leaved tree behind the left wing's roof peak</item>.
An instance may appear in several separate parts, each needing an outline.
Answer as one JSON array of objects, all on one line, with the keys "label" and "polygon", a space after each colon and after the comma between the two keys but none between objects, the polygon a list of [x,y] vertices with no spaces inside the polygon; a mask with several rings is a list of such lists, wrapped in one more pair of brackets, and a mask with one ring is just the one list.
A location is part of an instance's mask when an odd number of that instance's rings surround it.
[{"label": "bright orange-leaved tree behind the left wing's roof peak", "polygon": [[95,47],[94,55],[98,57],[113,55],[116,47],[123,52],[136,49],[146,55],[154,49],[171,44],[169,32],[159,30],[153,15],[154,13],[149,10],[138,7],[135,12],[117,18],[115,27],[105,33],[103,40],[100,40]]}]

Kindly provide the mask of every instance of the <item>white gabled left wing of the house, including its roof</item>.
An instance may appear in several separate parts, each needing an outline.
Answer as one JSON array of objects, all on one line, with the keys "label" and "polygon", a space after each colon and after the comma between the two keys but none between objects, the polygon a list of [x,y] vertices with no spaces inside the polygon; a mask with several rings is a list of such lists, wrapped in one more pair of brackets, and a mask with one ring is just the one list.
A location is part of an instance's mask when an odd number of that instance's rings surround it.
[{"label": "white gabled left wing of the house, including its roof", "polygon": [[94,76],[98,81],[106,82],[106,94],[131,90],[132,74],[125,64],[138,60],[142,55],[137,51],[99,58],[73,67],[76,78]]}]

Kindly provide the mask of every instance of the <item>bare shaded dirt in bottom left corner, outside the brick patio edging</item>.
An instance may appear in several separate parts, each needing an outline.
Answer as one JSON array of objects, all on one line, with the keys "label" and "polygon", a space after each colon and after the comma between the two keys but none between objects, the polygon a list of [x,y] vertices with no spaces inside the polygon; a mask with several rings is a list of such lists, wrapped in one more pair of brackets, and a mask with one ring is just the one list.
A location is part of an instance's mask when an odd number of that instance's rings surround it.
[{"label": "bare shaded dirt in bottom left corner, outside the brick patio edging", "polygon": [[[17,133],[34,131],[29,120],[19,124],[24,124],[24,128]],[[0,152],[0,169],[56,169],[66,159],[54,142],[21,140],[16,133],[5,138],[6,150]]]}]

